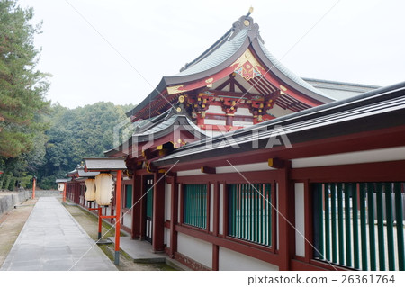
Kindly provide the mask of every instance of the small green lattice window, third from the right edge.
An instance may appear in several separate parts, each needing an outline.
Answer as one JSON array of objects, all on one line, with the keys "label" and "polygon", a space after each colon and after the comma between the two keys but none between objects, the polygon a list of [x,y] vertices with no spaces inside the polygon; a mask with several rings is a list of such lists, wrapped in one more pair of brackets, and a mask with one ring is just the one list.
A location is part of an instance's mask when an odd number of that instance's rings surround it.
[{"label": "small green lattice window, third from the right edge", "polygon": [[184,223],[196,228],[207,227],[207,185],[184,184]]}]

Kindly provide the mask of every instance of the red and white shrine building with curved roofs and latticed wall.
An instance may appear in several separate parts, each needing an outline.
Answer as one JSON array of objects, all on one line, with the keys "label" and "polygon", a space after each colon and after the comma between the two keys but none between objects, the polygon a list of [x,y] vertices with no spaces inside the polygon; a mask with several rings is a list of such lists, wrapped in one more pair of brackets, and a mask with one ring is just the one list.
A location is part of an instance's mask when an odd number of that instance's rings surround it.
[{"label": "red and white shrine building with curved roofs and latticed wall", "polygon": [[127,166],[122,229],[153,252],[194,270],[404,270],[405,83],[296,76],[247,13],[127,116],[105,156]]}]

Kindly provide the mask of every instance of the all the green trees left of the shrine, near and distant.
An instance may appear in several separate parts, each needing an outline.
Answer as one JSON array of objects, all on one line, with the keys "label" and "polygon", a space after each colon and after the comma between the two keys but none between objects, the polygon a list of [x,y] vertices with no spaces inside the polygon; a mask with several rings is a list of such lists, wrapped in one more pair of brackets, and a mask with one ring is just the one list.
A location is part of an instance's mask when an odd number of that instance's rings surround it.
[{"label": "all the green trees left of the shrine, near and distant", "polygon": [[103,157],[113,148],[113,130],[133,106],[94,103],[69,110],[44,98],[48,76],[36,69],[40,50],[31,8],[0,0],[0,188],[54,188],[83,157]]}]

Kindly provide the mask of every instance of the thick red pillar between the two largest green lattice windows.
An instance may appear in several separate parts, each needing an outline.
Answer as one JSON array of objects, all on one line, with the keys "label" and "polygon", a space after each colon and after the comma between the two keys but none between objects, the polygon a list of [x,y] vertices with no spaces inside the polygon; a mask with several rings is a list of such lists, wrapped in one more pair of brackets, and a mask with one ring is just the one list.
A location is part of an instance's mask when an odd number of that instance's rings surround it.
[{"label": "thick red pillar between the two largest green lattice windows", "polygon": [[294,190],[290,181],[289,173],[291,162],[286,162],[286,167],[280,170],[278,180],[278,211],[279,214],[279,250],[280,271],[290,270],[290,261],[295,252],[295,233],[291,225],[295,224],[294,219]]}]

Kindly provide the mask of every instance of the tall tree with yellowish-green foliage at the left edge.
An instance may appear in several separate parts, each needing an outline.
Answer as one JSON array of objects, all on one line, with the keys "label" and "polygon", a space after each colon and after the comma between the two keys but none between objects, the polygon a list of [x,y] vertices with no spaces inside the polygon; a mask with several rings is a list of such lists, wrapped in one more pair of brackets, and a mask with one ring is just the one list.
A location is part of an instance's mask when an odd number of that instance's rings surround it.
[{"label": "tall tree with yellowish-green foliage at the left edge", "polygon": [[29,23],[32,16],[32,8],[0,1],[0,157],[30,152],[46,129],[41,114],[49,107],[44,100],[49,83],[35,68],[40,51],[33,37],[40,25]]}]

